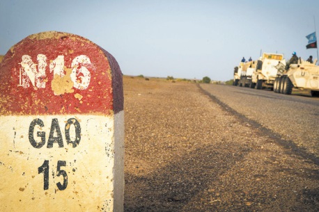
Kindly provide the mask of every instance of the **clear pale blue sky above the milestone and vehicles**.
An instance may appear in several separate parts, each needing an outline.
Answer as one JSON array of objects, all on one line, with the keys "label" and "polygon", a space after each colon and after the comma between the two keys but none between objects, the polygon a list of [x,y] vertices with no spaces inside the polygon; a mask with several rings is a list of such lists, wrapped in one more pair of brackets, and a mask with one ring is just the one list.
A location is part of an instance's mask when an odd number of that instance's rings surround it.
[{"label": "clear pale blue sky above the milestone and vehicles", "polygon": [[293,51],[319,29],[318,0],[0,0],[0,55],[44,31],[80,35],[125,75],[228,81],[240,60]]}]

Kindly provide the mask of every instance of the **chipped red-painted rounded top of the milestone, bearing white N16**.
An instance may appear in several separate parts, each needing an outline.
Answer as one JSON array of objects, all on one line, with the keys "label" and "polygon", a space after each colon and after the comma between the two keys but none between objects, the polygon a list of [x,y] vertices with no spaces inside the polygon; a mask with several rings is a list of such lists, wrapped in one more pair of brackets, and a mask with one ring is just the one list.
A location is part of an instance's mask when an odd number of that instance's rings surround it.
[{"label": "chipped red-painted rounded top of the milestone, bearing white N16", "polygon": [[[118,98],[109,87],[116,79],[122,81],[122,74],[116,61],[109,63],[109,58],[113,61],[107,51],[78,35],[59,32],[30,35],[15,44],[1,62],[1,90],[10,90],[10,95],[8,92],[0,94],[0,112],[6,115],[79,111],[111,114],[115,108],[117,113],[123,108],[118,109],[114,103],[123,101],[123,97]],[[111,70],[111,66],[116,69]],[[67,73],[67,69],[72,72],[68,70]],[[123,93],[123,88],[117,90]],[[75,93],[82,96],[81,100]],[[92,93],[96,97],[88,96]],[[107,98],[99,99],[98,96]],[[15,104],[8,104],[9,100]],[[38,104],[34,105],[34,101]]]}]

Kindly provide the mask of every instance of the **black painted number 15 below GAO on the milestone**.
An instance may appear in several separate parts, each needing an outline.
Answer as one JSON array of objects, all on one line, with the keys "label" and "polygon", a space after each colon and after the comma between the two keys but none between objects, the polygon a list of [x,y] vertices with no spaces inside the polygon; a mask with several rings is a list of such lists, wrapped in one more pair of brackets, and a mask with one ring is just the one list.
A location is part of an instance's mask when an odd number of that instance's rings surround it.
[{"label": "black painted number 15 below GAO on the milestone", "polygon": [[[58,161],[58,167],[56,168],[56,176],[63,176],[63,184],[60,182],[56,184],[59,190],[64,190],[66,186],[68,186],[68,174],[66,174],[65,170],[61,170],[61,166],[66,166],[65,161]],[[49,161],[45,160],[45,162],[38,168],[38,174],[43,173],[43,189],[49,189]]]}]

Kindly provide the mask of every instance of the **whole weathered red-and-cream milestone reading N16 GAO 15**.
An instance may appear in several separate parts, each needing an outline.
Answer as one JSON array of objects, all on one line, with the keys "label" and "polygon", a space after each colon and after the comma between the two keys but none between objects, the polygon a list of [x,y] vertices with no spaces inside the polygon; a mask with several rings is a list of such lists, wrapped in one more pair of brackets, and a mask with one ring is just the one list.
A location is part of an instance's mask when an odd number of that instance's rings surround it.
[{"label": "whole weathered red-and-cream milestone reading N16 GAO 15", "polygon": [[0,211],[123,211],[123,79],[86,38],[48,31],[0,63]]}]

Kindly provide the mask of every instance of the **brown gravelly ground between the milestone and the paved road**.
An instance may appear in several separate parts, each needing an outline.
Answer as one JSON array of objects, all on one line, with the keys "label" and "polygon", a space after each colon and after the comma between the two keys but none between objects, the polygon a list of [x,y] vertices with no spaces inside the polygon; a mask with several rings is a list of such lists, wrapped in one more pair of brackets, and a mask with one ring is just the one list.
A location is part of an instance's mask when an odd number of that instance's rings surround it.
[{"label": "brown gravelly ground between the milestone and the paved road", "polygon": [[318,164],[199,84],[123,80],[125,211],[319,211]]}]

